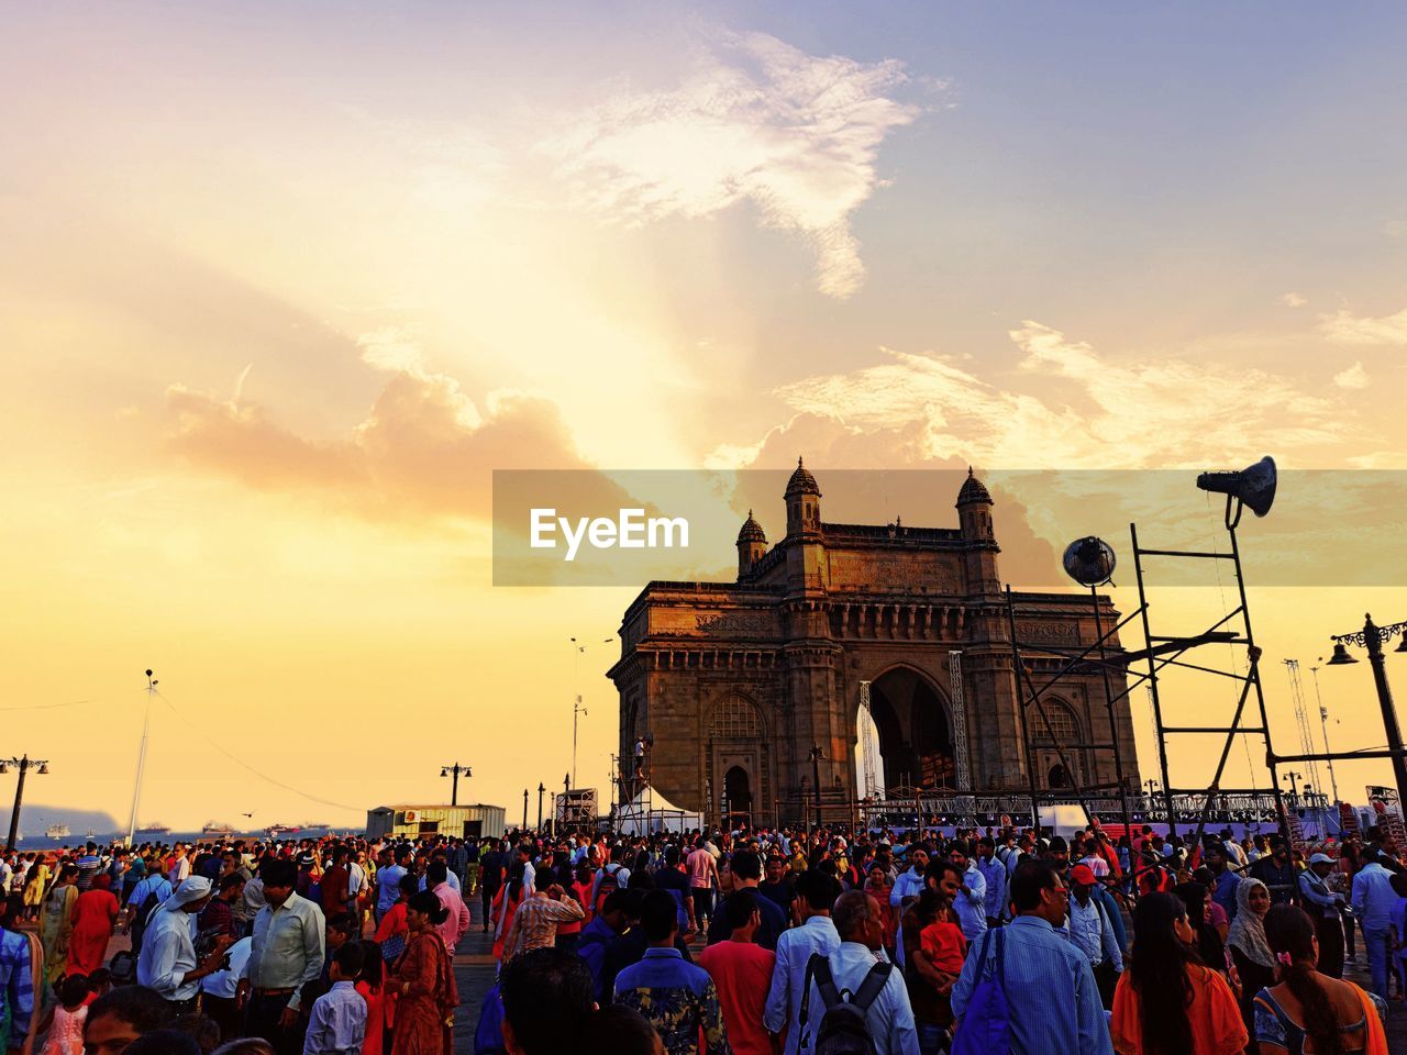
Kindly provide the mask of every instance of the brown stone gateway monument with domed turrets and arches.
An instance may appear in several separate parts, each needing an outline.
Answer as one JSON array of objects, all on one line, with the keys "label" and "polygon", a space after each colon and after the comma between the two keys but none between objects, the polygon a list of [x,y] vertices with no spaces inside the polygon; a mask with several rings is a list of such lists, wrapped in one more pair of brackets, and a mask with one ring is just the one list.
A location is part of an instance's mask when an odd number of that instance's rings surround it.
[{"label": "brown stone gateway monument with domed turrets and arches", "polygon": [[[848,820],[867,791],[855,764],[867,688],[875,775],[891,799],[1029,795],[1031,768],[1043,791],[1117,786],[1112,753],[1093,750],[1112,741],[1096,667],[1043,693],[1044,722],[1027,710],[1027,750],[992,497],[971,470],[957,528],[826,523],[801,459],[784,499],[787,535],[771,547],[749,512],[736,582],[650,582],[626,609],[608,671],[620,693],[619,800],[647,781],[711,823],[725,810],[756,826],[799,823],[819,774],[823,814]],[[1062,663],[1043,643],[1078,650],[1097,639],[1089,594],[1013,599],[1037,684]],[[1113,626],[1109,598],[1097,603]],[[1120,693],[1126,681],[1116,671],[1110,685]],[[1114,713],[1137,792],[1127,696]]]}]

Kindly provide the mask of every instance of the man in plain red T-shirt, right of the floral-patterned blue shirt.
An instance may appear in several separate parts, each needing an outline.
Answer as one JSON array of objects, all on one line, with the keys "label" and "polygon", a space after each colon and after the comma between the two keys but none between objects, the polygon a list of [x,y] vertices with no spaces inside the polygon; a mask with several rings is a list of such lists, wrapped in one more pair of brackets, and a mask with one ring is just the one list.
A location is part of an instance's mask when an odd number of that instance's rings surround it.
[{"label": "man in plain red T-shirt, right of the floral-patterned blue shirt", "polygon": [[718,989],[723,1027],[736,1055],[772,1055],[771,1035],[763,1025],[763,1007],[771,989],[777,954],[754,941],[757,928],[763,926],[757,890],[734,890],[720,910],[733,933],[727,941],[699,952],[699,966],[708,971]]}]

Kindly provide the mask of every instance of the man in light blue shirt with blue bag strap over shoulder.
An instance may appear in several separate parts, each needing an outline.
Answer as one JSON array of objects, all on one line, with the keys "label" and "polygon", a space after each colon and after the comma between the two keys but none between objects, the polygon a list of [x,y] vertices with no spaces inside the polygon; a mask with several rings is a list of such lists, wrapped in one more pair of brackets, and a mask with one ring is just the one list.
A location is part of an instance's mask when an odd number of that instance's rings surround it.
[{"label": "man in light blue shirt with blue bag strap over shoulder", "polygon": [[953,986],[953,1014],[962,1018],[1000,951],[1013,1055],[1113,1055],[1089,961],[1055,931],[1065,924],[1069,889],[1054,865],[1021,861],[1010,899],[1016,919],[968,952]]}]

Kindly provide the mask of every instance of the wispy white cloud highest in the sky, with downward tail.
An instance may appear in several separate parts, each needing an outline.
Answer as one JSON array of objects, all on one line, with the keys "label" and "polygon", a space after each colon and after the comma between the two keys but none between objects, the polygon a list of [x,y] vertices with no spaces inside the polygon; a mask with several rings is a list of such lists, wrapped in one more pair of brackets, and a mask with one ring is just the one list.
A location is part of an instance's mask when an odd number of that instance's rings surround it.
[{"label": "wispy white cloud highest in the sky, with downward tail", "polygon": [[751,203],[764,225],[810,243],[817,288],[846,298],[864,281],[850,215],[882,183],[881,142],[919,113],[891,97],[906,80],[896,60],[815,56],[765,34],[727,35],[678,87],[622,91],[543,149],[559,159],[578,207],[625,222]]}]

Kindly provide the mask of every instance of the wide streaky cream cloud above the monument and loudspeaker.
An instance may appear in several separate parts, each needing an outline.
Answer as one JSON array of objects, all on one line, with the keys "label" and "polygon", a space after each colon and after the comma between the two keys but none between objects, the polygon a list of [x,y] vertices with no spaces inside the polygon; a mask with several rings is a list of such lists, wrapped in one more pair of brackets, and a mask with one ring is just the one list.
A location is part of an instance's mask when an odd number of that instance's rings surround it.
[{"label": "wide streaky cream cloud above the monument and loudspeaker", "polygon": [[1117,362],[1038,322],[1010,336],[1026,353],[1010,387],[947,357],[885,349],[885,363],[777,395],[796,414],[896,443],[919,425],[920,460],[1006,468],[1171,468],[1258,450],[1313,459],[1356,435],[1334,399],[1258,370]]}]

